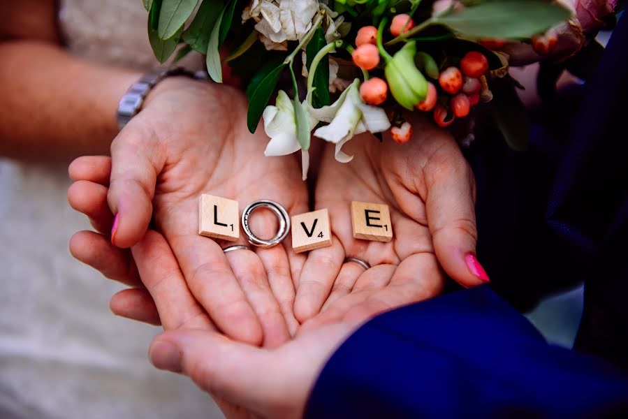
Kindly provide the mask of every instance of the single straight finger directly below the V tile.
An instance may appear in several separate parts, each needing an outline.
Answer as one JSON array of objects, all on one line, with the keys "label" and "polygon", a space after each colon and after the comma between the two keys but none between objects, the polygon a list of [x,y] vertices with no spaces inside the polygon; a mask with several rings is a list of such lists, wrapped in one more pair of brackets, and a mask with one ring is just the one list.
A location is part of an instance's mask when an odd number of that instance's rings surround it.
[{"label": "single straight finger directly below the V tile", "polygon": [[321,311],[344,262],[344,249],[337,237],[330,247],[309,251],[299,279],[294,316],[303,323]]}]

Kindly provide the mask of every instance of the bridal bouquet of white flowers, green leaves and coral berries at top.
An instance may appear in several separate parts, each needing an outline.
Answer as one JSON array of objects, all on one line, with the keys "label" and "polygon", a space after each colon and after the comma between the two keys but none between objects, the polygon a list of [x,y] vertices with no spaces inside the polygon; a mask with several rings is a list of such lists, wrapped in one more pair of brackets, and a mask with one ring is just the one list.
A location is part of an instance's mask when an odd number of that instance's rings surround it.
[{"label": "bridal bouquet of white flowers, green leaves and coral berries at top", "polygon": [[[335,144],[335,158],[358,133],[390,129],[411,138],[404,112],[430,112],[435,124],[464,119],[495,100],[502,131],[520,87],[509,75],[513,45],[536,57],[576,52],[584,40],[578,4],[545,0],[144,0],[148,34],[162,63],[177,50],[207,56],[207,72],[240,78],[251,132],[263,119],[267,156],[302,152],[311,133]],[[597,3],[595,3],[597,4]],[[606,3],[604,3],[606,5]],[[612,5],[614,6],[614,5]],[[582,8],[580,8],[581,10]],[[590,11],[590,8],[584,8]],[[606,10],[606,9],[605,9]],[[612,11],[606,10],[606,13]],[[568,36],[565,36],[567,34]],[[564,38],[576,43],[566,52]],[[269,104],[275,98],[274,104]],[[501,117],[500,117],[501,115]],[[513,118],[510,118],[513,120]],[[514,118],[516,119],[516,118]],[[501,122],[500,122],[501,121]],[[520,135],[520,133],[519,133]],[[380,137],[381,138],[381,137]],[[515,139],[513,139],[515,138]]]}]

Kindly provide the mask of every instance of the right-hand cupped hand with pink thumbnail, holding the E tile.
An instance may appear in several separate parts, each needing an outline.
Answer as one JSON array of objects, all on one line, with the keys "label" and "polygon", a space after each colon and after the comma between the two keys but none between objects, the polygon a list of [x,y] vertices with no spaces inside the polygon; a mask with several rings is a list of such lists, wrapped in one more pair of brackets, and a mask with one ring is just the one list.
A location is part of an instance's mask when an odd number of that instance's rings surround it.
[{"label": "right-hand cupped hand with pink thumbnail, holding the E tile", "polygon": [[[463,286],[488,280],[469,265],[476,262],[472,171],[447,131],[423,115],[410,122],[414,133],[404,145],[390,135],[383,142],[358,135],[344,146],[354,156],[349,163],[337,163],[333,145],[326,148],[315,205],[329,210],[333,246],[310,251],[303,265],[295,300],[300,322],[333,323],[348,314],[360,320],[425,300],[441,291],[439,265]],[[388,205],[392,241],[353,237],[353,200]]]}]

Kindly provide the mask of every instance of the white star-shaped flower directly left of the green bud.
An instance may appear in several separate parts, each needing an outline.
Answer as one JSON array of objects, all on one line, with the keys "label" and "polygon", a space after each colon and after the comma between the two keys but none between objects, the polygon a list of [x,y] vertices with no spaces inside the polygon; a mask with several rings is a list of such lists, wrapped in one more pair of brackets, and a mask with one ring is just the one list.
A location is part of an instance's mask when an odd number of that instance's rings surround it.
[{"label": "white star-shaped flower directly left of the green bud", "polygon": [[[360,98],[360,81],[354,80],[351,85],[342,92],[335,103],[314,109],[307,105],[306,110],[319,121],[329,122],[314,131],[314,136],[323,138],[336,145],[335,158],[341,163],[348,163],[353,156],[342,151],[342,146],[354,135],[370,131],[379,133],[390,128],[390,121],[386,117],[384,109],[367,105]],[[308,93],[308,96],[312,92]]]}]

